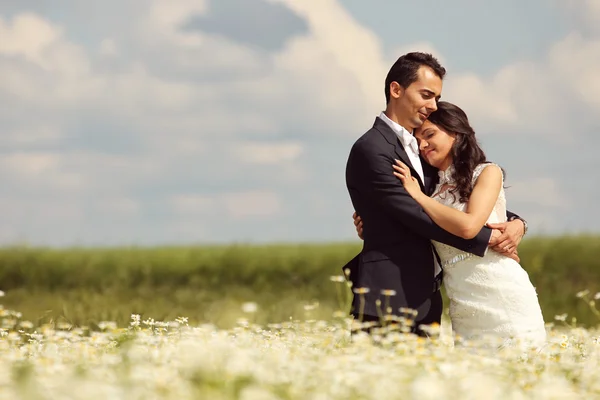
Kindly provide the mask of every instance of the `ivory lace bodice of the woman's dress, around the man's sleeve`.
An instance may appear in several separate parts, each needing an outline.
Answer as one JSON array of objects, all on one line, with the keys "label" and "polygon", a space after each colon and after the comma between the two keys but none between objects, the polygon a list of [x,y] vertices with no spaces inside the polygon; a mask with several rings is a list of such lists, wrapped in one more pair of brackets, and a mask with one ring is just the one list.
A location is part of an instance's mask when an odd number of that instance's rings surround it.
[{"label": "ivory lace bodice of the woman's dress, around the man's sleeve", "polygon": [[[483,163],[479,164],[475,167],[473,171],[473,179],[471,180],[471,185],[475,186],[475,182],[477,178],[488,166],[494,166],[495,168],[500,168],[497,164],[494,163]],[[455,186],[454,180],[454,167],[450,166],[445,171],[439,171],[438,175],[440,177],[439,183],[436,185],[433,198],[446,206],[452,207],[459,211],[465,211],[467,208],[467,203],[461,203],[459,201],[459,193],[452,193],[452,189]],[[490,213],[489,218],[487,219],[487,223],[499,223],[506,222],[506,197],[504,194],[504,178],[502,179],[502,188],[500,189],[500,194],[498,195],[498,199],[496,200],[496,204],[494,205],[494,209]],[[473,255],[471,253],[464,252],[455,247],[448,246],[447,244],[433,241],[433,245],[437,250],[440,259],[442,260],[442,268],[449,267],[452,264],[455,264],[458,261],[464,260],[465,258],[470,258]]]}]

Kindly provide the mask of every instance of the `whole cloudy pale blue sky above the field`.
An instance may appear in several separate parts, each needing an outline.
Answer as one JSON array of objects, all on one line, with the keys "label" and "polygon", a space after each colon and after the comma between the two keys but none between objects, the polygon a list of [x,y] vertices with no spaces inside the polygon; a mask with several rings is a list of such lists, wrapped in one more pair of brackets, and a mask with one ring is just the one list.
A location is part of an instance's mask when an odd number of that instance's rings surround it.
[{"label": "whole cloudy pale blue sky above the field", "polygon": [[598,27],[596,0],[0,0],[0,245],[358,240],[348,152],[414,50],[531,234],[597,233]]}]

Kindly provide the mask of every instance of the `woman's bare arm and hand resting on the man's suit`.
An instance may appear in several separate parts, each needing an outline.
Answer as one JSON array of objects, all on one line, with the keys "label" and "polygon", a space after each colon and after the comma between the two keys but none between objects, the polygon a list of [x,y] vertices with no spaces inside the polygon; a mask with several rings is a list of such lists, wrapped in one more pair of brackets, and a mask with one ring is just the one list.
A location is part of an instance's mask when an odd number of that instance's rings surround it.
[{"label": "woman's bare arm and hand resting on the man's suit", "polygon": [[[397,171],[401,170],[401,167],[400,169],[397,168]],[[427,215],[436,224],[464,239],[472,239],[477,236],[494,209],[498,194],[502,189],[502,171],[500,168],[495,165],[484,168],[477,178],[467,209],[462,212],[427,196],[421,192],[418,183],[416,184],[417,190],[415,190],[414,187],[411,187],[415,185],[415,182],[412,181],[413,178],[410,175],[408,175],[408,178],[406,177],[406,172],[395,172],[395,174],[403,181],[410,195],[423,207]],[[410,170],[408,170],[408,174],[410,174]],[[408,182],[409,180],[410,182]]]}]

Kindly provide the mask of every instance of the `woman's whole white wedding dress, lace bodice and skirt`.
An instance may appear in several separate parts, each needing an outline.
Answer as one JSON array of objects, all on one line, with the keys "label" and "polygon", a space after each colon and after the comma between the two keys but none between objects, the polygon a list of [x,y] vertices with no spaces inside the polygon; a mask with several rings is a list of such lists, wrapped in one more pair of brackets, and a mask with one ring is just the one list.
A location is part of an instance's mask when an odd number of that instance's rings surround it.
[{"label": "woman's whole white wedding dress, lace bodice and skirt", "polygon": [[[485,163],[475,168],[473,184],[490,165],[498,167]],[[467,204],[458,201],[459,194],[449,193],[454,187],[453,172],[452,166],[438,172],[440,182],[432,197],[465,211]],[[487,222],[505,221],[506,197],[502,188]],[[546,330],[537,294],[518,262],[490,248],[484,257],[479,257],[436,241],[433,244],[442,262],[450,320],[456,335],[465,339],[495,337],[504,344],[543,345]]]}]

